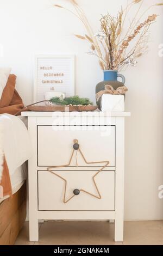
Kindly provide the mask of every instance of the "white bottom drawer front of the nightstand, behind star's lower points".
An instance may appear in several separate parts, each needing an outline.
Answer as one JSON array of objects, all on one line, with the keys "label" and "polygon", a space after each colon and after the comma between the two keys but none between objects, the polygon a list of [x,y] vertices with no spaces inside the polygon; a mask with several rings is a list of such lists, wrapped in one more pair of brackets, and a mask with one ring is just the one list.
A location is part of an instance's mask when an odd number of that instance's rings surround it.
[{"label": "white bottom drawer front of the nightstand, behind star's lower points", "polygon": [[114,211],[115,172],[102,171],[93,182],[96,173],[83,170],[39,171],[38,210]]}]

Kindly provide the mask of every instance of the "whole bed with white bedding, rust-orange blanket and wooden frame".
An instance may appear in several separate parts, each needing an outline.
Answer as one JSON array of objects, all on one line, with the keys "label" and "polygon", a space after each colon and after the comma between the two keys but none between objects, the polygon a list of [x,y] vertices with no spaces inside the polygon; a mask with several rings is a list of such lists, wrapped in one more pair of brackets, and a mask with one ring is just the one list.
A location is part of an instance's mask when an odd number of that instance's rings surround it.
[{"label": "whole bed with white bedding, rust-orange blanket and wooden frame", "polygon": [[[0,70],[0,87],[1,78]],[[26,166],[31,145],[26,118],[14,116],[23,108],[15,83],[16,76],[9,75],[0,90],[0,245],[14,245],[26,220]]]}]

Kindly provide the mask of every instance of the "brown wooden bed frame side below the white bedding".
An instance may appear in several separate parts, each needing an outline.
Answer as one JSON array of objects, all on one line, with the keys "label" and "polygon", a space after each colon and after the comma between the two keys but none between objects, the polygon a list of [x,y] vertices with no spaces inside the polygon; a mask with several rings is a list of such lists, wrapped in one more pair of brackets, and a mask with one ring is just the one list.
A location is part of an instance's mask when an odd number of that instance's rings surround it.
[{"label": "brown wooden bed frame side below the white bedding", "polygon": [[0,204],[0,245],[14,245],[26,220],[26,182]]}]

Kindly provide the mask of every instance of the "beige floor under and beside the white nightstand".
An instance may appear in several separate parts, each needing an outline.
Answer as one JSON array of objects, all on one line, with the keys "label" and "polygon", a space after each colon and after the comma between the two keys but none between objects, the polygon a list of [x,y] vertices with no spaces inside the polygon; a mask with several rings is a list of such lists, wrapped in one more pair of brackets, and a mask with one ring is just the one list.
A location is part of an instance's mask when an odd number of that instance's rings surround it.
[{"label": "beige floor under and beside the white nightstand", "polygon": [[29,242],[28,222],[15,245],[163,245],[163,221],[124,223],[124,242],[114,242],[114,224],[109,222],[44,222],[39,242]]}]

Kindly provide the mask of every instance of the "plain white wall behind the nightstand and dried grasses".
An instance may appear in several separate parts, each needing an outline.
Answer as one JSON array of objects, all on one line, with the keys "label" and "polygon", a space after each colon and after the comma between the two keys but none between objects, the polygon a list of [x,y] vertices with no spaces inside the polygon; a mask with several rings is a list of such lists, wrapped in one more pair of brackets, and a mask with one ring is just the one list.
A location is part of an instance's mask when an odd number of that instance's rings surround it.
[{"label": "plain white wall behind the nightstand and dried grasses", "polygon": [[[66,2],[64,0],[60,1]],[[158,1],[159,2],[159,1]],[[63,9],[52,8],[57,0],[0,0],[0,44],[4,46],[1,66],[11,66],[17,75],[17,90],[25,104],[33,101],[33,56],[35,53],[75,53],[76,93],[95,101],[95,87],[103,80],[97,59],[85,54],[88,45],[74,38],[83,34],[81,23]],[[78,0],[95,32],[101,14],[116,15],[125,0]],[[156,3],[145,0],[145,4]],[[163,199],[158,186],[163,185],[162,157],[162,58],[158,46],[163,43],[163,8],[151,28],[150,51],[136,68],[124,75],[129,92],[126,110],[126,182],[125,217],[127,220],[163,219]],[[130,14],[130,19],[132,13]]]}]

